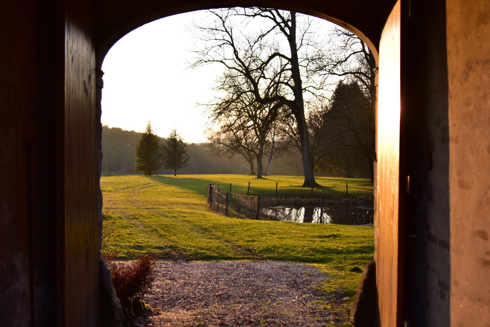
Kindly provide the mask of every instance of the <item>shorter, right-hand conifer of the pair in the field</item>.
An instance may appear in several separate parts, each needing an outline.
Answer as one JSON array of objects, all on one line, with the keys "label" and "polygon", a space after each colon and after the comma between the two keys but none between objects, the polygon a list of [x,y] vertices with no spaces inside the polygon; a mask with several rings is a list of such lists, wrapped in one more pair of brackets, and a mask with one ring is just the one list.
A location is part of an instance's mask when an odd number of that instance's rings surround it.
[{"label": "shorter, right-hand conifer of the pair in the field", "polygon": [[187,144],[184,143],[175,129],[172,129],[166,144],[161,148],[163,155],[163,168],[173,169],[173,176],[177,176],[177,170],[189,164],[189,154],[187,154]]}]

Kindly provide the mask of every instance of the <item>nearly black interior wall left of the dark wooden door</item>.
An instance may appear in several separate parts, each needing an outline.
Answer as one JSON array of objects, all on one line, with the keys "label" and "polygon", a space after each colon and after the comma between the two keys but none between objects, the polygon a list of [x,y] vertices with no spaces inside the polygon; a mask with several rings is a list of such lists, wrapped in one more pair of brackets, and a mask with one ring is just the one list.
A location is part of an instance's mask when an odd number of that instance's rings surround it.
[{"label": "nearly black interior wall left of the dark wooden door", "polygon": [[0,325],[50,326],[59,303],[62,178],[57,4],[2,1],[0,8]]}]

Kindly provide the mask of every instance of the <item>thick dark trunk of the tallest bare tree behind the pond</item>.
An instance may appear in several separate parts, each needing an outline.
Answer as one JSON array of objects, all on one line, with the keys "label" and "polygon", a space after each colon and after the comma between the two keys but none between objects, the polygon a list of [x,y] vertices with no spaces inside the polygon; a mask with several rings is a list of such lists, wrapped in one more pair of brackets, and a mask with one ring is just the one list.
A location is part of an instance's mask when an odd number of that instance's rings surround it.
[{"label": "thick dark trunk of the tallest bare tree behind the pond", "polygon": [[308,140],[308,130],[304,113],[303,101],[303,82],[299,71],[298,51],[296,47],[296,13],[291,12],[291,30],[289,34],[289,47],[291,50],[291,75],[294,80],[294,102],[295,108],[292,108],[294,118],[301,142],[301,156],[303,157],[303,173],[305,176],[303,187],[312,187],[317,185],[313,176],[313,167],[311,164],[310,141]]}]

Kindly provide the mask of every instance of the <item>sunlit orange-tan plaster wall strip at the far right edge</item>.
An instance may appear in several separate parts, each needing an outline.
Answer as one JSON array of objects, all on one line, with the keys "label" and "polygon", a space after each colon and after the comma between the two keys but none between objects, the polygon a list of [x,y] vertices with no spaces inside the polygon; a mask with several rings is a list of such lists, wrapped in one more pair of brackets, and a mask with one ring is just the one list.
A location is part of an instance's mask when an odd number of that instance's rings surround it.
[{"label": "sunlit orange-tan plaster wall strip at the far right edge", "polygon": [[490,1],[447,0],[451,325],[490,326]]}]

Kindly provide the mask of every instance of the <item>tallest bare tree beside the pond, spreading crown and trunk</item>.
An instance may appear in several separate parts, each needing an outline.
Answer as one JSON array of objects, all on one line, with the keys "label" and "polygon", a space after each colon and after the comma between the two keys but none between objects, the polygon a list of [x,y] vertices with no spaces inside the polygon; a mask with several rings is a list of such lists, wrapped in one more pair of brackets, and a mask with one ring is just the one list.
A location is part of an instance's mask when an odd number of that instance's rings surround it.
[{"label": "tallest bare tree beside the pond, spreading crown and trunk", "polygon": [[[218,88],[228,89],[229,101],[252,95],[259,107],[267,106],[273,111],[287,106],[296,121],[305,177],[303,186],[315,185],[303,99],[303,93],[317,94],[322,89],[322,85],[313,83],[312,74],[316,72],[309,70],[319,50],[311,34],[311,20],[306,18],[298,28],[295,12],[258,7],[217,9],[210,13],[213,23],[196,25],[206,47],[196,50],[192,67],[224,65],[227,74],[221,78]],[[269,27],[258,35],[237,32],[237,20],[246,25],[255,18],[267,19]],[[273,41],[279,36],[282,43]],[[286,47],[282,47],[284,44]],[[233,87],[229,92],[230,80],[233,86],[242,87]],[[262,164],[260,160],[257,162]]]}]

